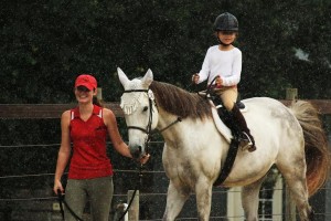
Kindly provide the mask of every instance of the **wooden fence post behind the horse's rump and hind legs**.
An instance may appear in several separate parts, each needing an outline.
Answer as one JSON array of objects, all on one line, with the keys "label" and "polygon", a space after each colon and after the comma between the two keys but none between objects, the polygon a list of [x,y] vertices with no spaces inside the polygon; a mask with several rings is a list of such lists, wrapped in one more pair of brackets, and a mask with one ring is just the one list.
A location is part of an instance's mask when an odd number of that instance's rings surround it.
[{"label": "wooden fence post behind the horse's rump and hind legs", "polygon": [[[298,88],[286,88],[286,99],[298,99]],[[296,221],[296,203],[291,199],[291,193],[288,185],[285,189],[285,221]]]}]

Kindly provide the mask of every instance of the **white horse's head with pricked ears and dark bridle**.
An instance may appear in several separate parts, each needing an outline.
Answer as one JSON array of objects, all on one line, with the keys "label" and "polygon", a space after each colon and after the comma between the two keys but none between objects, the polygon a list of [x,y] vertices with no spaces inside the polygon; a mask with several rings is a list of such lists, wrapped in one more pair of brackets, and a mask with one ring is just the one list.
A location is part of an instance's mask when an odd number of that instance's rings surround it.
[{"label": "white horse's head with pricked ears and dark bridle", "polygon": [[148,70],[142,78],[130,81],[119,67],[117,73],[125,88],[120,107],[129,129],[130,152],[134,158],[140,158],[148,152],[148,141],[159,117],[153,93],[149,90],[153,75]]}]

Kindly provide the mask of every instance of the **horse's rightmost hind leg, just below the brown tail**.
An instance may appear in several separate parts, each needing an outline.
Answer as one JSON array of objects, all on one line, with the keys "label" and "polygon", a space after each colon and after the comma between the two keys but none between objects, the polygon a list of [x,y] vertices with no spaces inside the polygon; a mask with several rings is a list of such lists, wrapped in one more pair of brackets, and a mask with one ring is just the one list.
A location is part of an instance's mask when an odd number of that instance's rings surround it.
[{"label": "horse's rightmost hind leg, just below the brown tail", "polygon": [[277,164],[277,167],[290,189],[291,199],[296,202],[301,221],[312,221],[313,212],[308,201],[305,157],[292,162]]}]

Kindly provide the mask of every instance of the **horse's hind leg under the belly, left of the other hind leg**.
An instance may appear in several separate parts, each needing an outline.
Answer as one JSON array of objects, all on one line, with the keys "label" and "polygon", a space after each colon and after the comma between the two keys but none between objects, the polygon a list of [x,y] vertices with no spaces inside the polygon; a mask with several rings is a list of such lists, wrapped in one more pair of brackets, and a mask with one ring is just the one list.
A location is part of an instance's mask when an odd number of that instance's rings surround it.
[{"label": "horse's hind leg under the belly, left of the other hind leg", "polygon": [[242,189],[242,204],[247,221],[258,220],[258,193],[263,179],[247,185]]}]

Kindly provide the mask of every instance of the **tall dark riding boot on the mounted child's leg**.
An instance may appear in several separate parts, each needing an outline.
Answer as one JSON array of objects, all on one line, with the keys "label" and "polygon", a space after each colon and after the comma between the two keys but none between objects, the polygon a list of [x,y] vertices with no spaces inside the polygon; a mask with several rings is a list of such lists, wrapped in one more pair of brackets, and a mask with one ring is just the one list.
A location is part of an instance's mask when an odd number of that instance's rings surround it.
[{"label": "tall dark riding boot on the mounted child's leg", "polygon": [[232,114],[234,116],[235,122],[237,123],[237,125],[239,126],[241,130],[242,130],[242,136],[241,136],[241,146],[243,149],[248,149],[248,151],[255,151],[256,147],[255,147],[255,140],[254,137],[250,135],[250,131],[247,127],[245,117],[243,116],[242,112],[239,110],[239,108],[234,105],[233,109],[232,109]]}]

